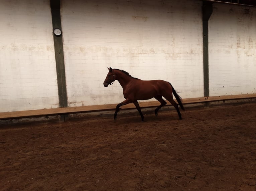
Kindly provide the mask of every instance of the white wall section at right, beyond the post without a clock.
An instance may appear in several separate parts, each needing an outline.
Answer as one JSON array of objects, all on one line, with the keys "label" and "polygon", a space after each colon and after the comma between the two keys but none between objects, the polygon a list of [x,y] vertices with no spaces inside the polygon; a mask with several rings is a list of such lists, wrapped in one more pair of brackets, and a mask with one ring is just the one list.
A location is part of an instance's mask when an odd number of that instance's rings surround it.
[{"label": "white wall section at right, beyond the post without a clock", "polygon": [[256,93],[256,8],[213,4],[209,20],[210,96]]}]

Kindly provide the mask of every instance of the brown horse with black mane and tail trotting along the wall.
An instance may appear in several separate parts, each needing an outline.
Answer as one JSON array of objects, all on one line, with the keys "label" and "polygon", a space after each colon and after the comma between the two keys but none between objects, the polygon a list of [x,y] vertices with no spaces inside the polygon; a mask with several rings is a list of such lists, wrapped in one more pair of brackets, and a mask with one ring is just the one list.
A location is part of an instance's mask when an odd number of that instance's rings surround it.
[{"label": "brown horse with black mane and tail trotting along the wall", "polygon": [[119,69],[108,68],[109,73],[103,83],[105,87],[112,85],[115,80],[117,80],[123,88],[123,94],[125,100],[116,106],[116,112],[114,114],[114,119],[116,119],[119,107],[126,105],[128,103],[133,103],[138,109],[141,120],[144,120],[144,116],[141,112],[138,100],[145,100],[155,98],[161,104],[155,109],[155,115],[157,115],[158,110],[166,104],[162,96],[165,97],[177,110],[179,119],[181,119],[181,113],[179,112],[178,104],[173,100],[172,94],[175,96],[179,103],[181,109],[184,110],[182,105],[181,97],[176,93],[174,88],[169,82],[163,80],[140,80],[138,78],[133,78],[128,72]]}]

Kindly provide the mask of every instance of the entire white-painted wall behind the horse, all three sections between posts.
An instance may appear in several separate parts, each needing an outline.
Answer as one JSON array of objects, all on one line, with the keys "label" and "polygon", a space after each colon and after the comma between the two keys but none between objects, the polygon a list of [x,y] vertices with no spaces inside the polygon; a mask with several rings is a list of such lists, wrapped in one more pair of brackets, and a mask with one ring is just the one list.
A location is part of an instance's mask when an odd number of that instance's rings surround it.
[{"label": "entire white-painted wall behind the horse, all three sections between posts", "polygon": [[[256,8],[213,6],[210,95],[255,93]],[[63,0],[61,19],[69,106],[123,101],[107,67],[203,96],[202,1]],[[0,26],[0,112],[58,107],[49,1],[0,0]]]}]

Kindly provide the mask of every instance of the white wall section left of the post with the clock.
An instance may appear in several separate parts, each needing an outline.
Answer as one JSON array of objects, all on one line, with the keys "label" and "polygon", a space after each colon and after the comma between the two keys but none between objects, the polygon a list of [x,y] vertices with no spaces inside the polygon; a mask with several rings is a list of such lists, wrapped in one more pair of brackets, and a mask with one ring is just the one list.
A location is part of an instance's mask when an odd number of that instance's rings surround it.
[{"label": "white wall section left of the post with the clock", "polygon": [[0,112],[58,107],[49,1],[0,0]]}]

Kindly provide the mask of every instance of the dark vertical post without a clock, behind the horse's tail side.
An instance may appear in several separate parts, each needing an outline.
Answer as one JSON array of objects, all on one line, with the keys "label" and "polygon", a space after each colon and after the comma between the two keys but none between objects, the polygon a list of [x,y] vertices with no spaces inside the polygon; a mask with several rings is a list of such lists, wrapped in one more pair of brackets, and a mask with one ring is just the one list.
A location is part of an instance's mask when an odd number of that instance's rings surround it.
[{"label": "dark vertical post without a clock, behind the horse's tail side", "polygon": [[204,62],[204,96],[209,96],[209,52],[208,21],[213,13],[211,2],[203,1],[203,62]]}]

